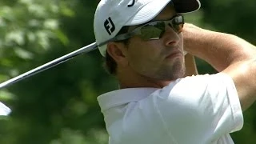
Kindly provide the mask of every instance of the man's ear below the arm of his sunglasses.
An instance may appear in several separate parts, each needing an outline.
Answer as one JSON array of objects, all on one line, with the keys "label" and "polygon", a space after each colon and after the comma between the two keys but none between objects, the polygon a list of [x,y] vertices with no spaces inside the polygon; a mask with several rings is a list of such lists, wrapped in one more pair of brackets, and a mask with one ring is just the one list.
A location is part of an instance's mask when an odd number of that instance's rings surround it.
[{"label": "man's ear below the arm of his sunglasses", "polygon": [[121,42],[109,42],[106,52],[114,59],[118,65],[127,66],[127,47]]}]

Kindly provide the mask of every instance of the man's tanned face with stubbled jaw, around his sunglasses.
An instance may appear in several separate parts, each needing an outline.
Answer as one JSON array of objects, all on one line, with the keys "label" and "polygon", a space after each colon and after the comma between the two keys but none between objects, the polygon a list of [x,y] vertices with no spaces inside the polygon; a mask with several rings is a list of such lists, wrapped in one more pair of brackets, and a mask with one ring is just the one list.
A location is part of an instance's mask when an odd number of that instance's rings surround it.
[{"label": "man's tanned face with stubbled jaw, around his sunglasses", "polygon": [[[169,20],[176,14],[172,6],[166,6],[154,20]],[[131,27],[133,29],[133,27]],[[162,38],[143,41],[134,36],[127,46],[129,66],[135,73],[156,81],[171,81],[185,74],[182,33],[170,26]]]}]

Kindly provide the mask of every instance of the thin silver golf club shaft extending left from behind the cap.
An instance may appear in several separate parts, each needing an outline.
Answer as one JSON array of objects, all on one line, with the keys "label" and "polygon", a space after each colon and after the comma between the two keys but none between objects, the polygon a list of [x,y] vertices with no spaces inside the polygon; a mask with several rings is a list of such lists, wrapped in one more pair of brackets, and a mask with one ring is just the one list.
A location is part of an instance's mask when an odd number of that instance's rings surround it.
[{"label": "thin silver golf club shaft extending left from behind the cap", "polygon": [[60,58],[54,59],[53,61],[50,61],[50,62],[47,62],[46,64],[43,64],[42,66],[38,66],[38,67],[34,68],[33,70],[27,71],[24,74],[20,74],[17,77],[11,78],[11,79],[7,80],[6,82],[0,83],[0,89],[4,88],[6,86],[10,86],[11,84],[13,84],[15,82],[19,82],[22,79],[28,78],[34,74],[38,74],[38,73],[42,72],[43,70],[50,69],[51,67],[57,66],[58,64],[61,64],[62,62],[66,62],[66,61],[70,60],[71,58],[74,58],[80,54],[88,53],[97,48],[98,48],[98,46],[97,46],[96,42],[91,43],[88,46],[84,46],[84,47],[82,47],[78,50],[75,50],[69,54],[63,55]]}]

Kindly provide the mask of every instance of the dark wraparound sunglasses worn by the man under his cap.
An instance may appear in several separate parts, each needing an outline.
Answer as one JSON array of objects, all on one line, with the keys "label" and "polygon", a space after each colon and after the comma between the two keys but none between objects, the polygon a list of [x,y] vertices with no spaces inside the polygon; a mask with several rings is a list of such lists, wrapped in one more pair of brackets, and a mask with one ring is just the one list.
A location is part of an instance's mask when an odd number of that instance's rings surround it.
[{"label": "dark wraparound sunglasses worn by the man under his cap", "polygon": [[154,21],[148,22],[142,26],[138,26],[134,30],[126,34],[119,34],[118,36],[111,38],[106,42],[100,43],[98,46],[105,45],[107,42],[122,41],[128,38],[138,35],[144,41],[162,38],[167,26],[170,26],[176,33],[181,33],[184,25],[184,17],[181,14],[175,15],[170,20],[166,21]]}]

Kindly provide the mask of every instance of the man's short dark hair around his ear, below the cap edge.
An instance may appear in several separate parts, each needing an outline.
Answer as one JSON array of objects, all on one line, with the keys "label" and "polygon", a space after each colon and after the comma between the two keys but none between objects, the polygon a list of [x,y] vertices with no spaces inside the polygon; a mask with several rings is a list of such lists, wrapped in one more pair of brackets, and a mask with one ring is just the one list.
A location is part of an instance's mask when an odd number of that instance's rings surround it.
[{"label": "man's short dark hair around his ear, below the cap edge", "polygon": [[[122,29],[118,32],[118,34],[125,34],[128,32],[128,29],[129,29],[129,26],[123,26]],[[122,42],[125,45],[128,45],[129,39],[130,38],[122,40],[122,41],[118,41],[118,42]],[[107,52],[107,50],[106,50],[106,57],[104,59],[104,67],[109,74],[113,74],[113,75],[117,74],[118,64],[117,64],[117,62],[114,61],[114,58],[112,58],[110,56],[110,54]]]}]

